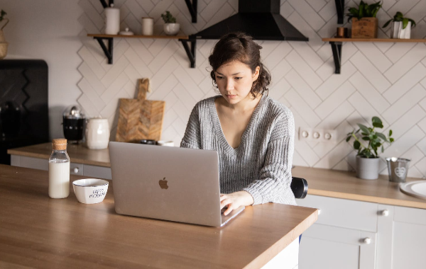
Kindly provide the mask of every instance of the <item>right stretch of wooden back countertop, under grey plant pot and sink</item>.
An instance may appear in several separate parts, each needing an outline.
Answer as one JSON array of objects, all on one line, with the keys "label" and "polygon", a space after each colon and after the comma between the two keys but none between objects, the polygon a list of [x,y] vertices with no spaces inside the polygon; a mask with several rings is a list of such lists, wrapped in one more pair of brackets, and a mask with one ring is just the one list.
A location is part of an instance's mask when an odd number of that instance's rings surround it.
[{"label": "right stretch of wooden back countertop, under grey plant pot and sink", "polygon": [[[302,166],[293,168],[292,174],[307,180],[308,195],[426,209],[426,200],[402,193],[399,183],[389,181],[388,176],[380,175],[377,180],[369,181],[356,178],[353,172]],[[419,180],[421,178],[407,178],[408,182]]]}]

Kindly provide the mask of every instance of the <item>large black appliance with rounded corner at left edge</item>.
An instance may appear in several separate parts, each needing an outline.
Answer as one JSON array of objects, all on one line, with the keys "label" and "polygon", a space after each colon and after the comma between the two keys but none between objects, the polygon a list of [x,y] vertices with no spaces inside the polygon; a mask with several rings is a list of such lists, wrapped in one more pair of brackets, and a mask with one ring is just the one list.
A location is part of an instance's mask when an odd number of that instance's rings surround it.
[{"label": "large black appliance with rounded corner at left edge", "polygon": [[8,149],[49,141],[48,64],[39,59],[0,61],[0,164]]}]

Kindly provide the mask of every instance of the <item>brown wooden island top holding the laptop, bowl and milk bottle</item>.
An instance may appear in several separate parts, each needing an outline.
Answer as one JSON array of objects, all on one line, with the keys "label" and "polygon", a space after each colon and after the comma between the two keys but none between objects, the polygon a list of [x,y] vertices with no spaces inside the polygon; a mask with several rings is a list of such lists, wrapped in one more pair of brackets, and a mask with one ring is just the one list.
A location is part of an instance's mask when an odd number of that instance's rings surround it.
[{"label": "brown wooden island top holding the laptop, bowl and milk bottle", "polygon": [[[71,176],[71,181],[82,176]],[[0,165],[0,268],[260,268],[317,220],[292,205],[246,207],[222,228],[116,214],[70,188],[48,197],[48,171]]]}]

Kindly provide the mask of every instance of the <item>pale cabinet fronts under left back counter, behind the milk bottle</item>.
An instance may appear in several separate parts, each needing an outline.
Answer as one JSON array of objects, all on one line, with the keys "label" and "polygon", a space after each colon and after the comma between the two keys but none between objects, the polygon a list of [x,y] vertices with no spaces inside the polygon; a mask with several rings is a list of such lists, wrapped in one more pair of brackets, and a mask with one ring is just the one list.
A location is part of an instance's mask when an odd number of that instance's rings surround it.
[{"label": "pale cabinet fronts under left back counter, behind the milk bottle", "polygon": [[[49,161],[46,159],[11,155],[11,165],[39,170],[49,170]],[[111,168],[104,166],[91,166],[88,164],[70,164],[70,174],[87,176],[90,178],[112,179]]]}]

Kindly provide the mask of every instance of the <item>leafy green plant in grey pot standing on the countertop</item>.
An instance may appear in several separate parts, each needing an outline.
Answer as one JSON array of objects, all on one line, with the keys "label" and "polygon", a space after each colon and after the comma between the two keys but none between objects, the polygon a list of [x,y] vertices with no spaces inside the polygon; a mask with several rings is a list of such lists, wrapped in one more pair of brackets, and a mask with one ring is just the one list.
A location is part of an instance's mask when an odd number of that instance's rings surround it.
[{"label": "leafy green plant in grey pot standing on the countertop", "polygon": [[[358,151],[356,154],[356,177],[363,179],[378,178],[378,149],[383,152],[383,144],[391,144],[393,142],[392,130],[389,130],[388,137],[381,132],[377,132],[376,128],[383,128],[383,123],[380,118],[373,117],[371,119],[373,127],[366,127],[358,123],[359,129],[349,132],[346,137],[346,142],[354,138],[354,149]],[[361,131],[361,135],[358,133]],[[357,136],[358,135],[358,136]],[[365,145],[368,143],[367,145]]]}]

